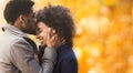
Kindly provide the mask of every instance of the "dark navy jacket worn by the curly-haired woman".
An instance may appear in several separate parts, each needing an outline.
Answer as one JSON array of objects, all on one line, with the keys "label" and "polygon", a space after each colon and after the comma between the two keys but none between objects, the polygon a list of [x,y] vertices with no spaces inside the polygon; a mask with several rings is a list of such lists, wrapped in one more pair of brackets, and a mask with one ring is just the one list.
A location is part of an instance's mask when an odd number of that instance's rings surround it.
[{"label": "dark navy jacket worn by the curly-haired woman", "polygon": [[58,62],[53,73],[78,73],[78,61],[70,43],[58,50]]}]

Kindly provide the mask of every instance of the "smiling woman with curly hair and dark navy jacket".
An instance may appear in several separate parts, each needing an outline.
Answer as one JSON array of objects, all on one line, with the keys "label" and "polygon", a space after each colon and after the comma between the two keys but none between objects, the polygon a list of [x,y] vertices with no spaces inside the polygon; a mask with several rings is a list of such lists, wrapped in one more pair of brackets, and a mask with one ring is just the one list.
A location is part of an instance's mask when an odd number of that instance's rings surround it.
[{"label": "smiling woman with curly hair and dark navy jacket", "polygon": [[53,73],[78,73],[78,61],[72,50],[74,36],[74,23],[69,9],[61,6],[48,6],[37,14],[38,39],[41,45],[45,45],[49,28],[64,38],[65,43],[58,49],[58,62]]}]

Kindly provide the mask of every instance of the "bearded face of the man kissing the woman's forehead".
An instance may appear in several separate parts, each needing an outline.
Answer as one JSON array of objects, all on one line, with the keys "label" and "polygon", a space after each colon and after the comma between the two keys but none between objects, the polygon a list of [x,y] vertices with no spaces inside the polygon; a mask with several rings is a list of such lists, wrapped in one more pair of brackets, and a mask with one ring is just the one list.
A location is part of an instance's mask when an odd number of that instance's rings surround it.
[{"label": "bearded face of the man kissing the woman's forehead", "polygon": [[35,22],[37,22],[35,13],[32,11],[29,13],[29,15],[27,15],[27,19],[24,21],[25,27],[23,31],[29,34],[35,34],[37,29]]}]

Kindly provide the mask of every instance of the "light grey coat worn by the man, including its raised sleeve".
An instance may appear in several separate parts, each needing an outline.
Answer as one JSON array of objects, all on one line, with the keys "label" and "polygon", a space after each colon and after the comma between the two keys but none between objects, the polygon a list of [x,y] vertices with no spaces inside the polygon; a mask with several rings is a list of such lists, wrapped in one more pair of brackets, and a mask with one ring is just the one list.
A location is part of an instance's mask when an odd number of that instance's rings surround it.
[{"label": "light grey coat worn by the man, including its raised sleeve", "polygon": [[25,33],[6,24],[0,35],[0,73],[52,73],[57,60],[54,49],[45,48],[40,65],[34,59],[32,46],[22,38]]}]

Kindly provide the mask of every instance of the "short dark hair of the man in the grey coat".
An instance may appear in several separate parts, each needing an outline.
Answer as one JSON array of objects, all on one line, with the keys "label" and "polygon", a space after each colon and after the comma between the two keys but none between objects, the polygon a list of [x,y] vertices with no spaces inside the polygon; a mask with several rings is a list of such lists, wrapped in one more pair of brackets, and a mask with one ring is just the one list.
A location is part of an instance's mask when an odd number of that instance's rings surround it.
[{"label": "short dark hair of the man in the grey coat", "polygon": [[28,15],[32,11],[34,4],[31,0],[10,0],[4,9],[4,19],[9,23],[14,23],[20,14]]}]

